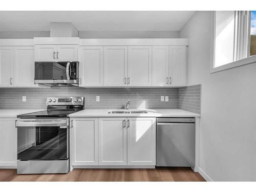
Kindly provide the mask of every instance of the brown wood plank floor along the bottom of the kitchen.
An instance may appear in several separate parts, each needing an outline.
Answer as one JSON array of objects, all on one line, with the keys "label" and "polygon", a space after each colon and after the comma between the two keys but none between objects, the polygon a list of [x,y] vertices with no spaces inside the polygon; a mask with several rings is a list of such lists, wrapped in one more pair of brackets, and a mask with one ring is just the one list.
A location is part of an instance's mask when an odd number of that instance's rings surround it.
[{"label": "brown wood plank floor along the bottom of the kitchen", "polygon": [[17,175],[0,169],[0,181],[205,181],[189,167],[156,169],[73,169],[68,174]]}]

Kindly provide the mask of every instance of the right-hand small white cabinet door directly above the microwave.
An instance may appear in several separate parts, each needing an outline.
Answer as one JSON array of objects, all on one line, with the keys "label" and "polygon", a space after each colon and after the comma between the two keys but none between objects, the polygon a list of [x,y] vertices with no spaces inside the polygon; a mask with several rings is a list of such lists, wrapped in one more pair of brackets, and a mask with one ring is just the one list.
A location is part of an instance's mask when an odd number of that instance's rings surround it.
[{"label": "right-hand small white cabinet door directly above the microwave", "polygon": [[78,61],[77,45],[59,45],[56,53],[57,61]]}]

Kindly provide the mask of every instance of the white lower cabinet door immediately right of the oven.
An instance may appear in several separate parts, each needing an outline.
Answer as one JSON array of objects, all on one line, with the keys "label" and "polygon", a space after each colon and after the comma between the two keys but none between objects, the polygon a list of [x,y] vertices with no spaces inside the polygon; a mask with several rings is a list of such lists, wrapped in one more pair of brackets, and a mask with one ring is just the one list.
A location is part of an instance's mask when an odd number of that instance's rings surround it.
[{"label": "white lower cabinet door immediately right of the oven", "polygon": [[98,118],[72,121],[71,165],[98,165]]}]

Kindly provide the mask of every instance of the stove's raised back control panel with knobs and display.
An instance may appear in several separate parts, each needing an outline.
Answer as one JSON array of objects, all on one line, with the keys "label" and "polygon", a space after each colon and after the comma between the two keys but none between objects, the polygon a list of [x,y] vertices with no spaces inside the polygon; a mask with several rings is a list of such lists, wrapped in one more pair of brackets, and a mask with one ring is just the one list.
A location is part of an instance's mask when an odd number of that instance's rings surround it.
[{"label": "stove's raised back control panel with knobs and display", "polygon": [[48,97],[46,105],[84,105],[84,97]]}]

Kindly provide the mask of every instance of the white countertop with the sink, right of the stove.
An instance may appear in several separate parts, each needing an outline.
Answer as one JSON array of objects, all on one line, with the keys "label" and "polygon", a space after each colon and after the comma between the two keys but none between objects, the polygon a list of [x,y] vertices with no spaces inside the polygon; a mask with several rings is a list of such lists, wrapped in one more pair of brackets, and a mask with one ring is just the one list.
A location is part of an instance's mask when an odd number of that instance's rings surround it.
[{"label": "white countertop with the sink, right of the stove", "polygon": [[[129,111],[137,111],[129,110]],[[180,109],[139,109],[147,111],[148,113],[123,113],[123,114],[109,114],[109,111],[126,111],[115,109],[85,109],[73,114],[70,117],[200,117],[199,114],[191,113]]]}]

